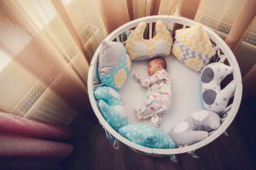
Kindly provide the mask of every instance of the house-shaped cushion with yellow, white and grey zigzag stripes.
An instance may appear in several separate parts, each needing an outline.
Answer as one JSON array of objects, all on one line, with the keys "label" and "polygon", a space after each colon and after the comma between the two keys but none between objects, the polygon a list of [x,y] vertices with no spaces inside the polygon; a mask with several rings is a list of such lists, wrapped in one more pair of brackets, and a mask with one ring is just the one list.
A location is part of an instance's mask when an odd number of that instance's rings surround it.
[{"label": "house-shaped cushion with yellow, white and grey zigzag stripes", "polygon": [[194,71],[202,71],[215,50],[207,31],[200,25],[175,31],[172,54]]}]

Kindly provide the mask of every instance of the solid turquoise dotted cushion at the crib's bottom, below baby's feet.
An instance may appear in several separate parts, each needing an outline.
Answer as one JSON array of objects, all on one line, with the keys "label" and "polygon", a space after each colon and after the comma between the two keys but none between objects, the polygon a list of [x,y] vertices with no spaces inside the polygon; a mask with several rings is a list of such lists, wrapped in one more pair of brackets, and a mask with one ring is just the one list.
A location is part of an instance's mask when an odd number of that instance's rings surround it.
[{"label": "solid turquoise dotted cushion at the crib's bottom, below baby's feet", "polygon": [[136,144],[150,148],[175,148],[172,139],[159,128],[145,124],[130,124],[119,129],[119,133]]}]

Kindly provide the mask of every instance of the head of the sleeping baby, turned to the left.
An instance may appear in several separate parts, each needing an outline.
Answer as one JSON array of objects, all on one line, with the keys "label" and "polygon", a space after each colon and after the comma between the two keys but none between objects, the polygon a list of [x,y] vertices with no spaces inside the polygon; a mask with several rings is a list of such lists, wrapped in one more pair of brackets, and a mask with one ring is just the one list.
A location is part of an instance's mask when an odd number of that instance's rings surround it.
[{"label": "head of the sleeping baby, turned to the left", "polygon": [[148,75],[152,76],[156,71],[166,69],[166,60],[161,57],[155,57],[148,62]]}]

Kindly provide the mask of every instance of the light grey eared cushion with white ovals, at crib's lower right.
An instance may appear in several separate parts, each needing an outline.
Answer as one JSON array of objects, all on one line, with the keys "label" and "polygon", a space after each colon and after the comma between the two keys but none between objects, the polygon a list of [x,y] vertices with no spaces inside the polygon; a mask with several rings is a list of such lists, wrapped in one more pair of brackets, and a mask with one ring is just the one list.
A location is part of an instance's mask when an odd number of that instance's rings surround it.
[{"label": "light grey eared cushion with white ovals, at crib's lower right", "polygon": [[218,129],[220,118],[212,111],[196,111],[172,127],[169,135],[177,146],[195,144],[208,137],[208,132]]}]

